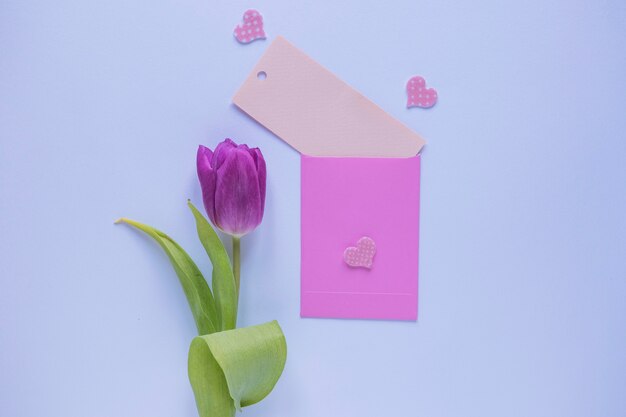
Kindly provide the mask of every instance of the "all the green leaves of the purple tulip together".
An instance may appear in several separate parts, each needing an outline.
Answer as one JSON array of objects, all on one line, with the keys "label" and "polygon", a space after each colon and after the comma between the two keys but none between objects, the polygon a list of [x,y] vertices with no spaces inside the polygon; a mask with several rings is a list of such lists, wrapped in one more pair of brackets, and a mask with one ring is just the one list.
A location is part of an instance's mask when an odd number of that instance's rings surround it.
[{"label": "all the green leaves of the purple tulip together", "polygon": [[200,212],[188,202],[198,237],[213,264],[213,293],[187,253],[165,233],[122,218],[165,251],[183,287],[198,334],[189,348],[189,381],[200,417],[233,417],[274,388],[287,359],[285,336],[276,321],[235,329],[237,284],[228,253]]}]

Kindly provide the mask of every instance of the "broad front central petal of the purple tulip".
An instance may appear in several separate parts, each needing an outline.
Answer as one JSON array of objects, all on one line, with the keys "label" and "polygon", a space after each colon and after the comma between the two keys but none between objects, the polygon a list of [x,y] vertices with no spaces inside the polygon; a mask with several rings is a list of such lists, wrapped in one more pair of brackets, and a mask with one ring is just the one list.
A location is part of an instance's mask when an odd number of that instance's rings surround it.
[{"label": "broad front central petal of the purple tulip", "polygon": [[263,216],[256,165],[245,150],[230,151],[218,169],[215,214],[216,225],[235,236],[254,230]]}]

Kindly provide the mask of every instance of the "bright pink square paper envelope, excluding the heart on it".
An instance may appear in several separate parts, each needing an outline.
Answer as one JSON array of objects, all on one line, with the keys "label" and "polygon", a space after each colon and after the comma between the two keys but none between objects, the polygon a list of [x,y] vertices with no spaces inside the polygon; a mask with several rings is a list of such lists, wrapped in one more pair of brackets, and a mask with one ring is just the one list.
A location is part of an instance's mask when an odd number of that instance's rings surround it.
[{"label": "bright pink square paper envelope, excluding the heart on it", "polygon": [[[302,156],[303,317],[415,320],[420,157]],[[371,269],[342,254],[363,236]]]}]

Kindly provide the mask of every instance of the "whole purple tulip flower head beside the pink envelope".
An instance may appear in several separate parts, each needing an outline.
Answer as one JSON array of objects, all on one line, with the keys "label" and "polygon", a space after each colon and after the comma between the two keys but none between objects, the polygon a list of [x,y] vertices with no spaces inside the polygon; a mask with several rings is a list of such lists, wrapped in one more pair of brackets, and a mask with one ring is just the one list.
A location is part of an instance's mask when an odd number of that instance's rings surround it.
[{"label": "whole purple tulip flower head beside the pink envelope", "polygon": [[265,207],[265,159],[259,148],[230,139],[214,152],[200,145],[197,165],[204,208],[213,224],[236,238],[253,231]]}]

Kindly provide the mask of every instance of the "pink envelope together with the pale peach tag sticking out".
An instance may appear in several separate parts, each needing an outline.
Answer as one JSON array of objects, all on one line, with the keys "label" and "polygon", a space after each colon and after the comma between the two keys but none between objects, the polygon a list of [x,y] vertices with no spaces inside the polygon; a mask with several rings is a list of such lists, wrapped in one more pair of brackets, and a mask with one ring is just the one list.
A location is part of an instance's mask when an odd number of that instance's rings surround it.
[{"label": "pink envelope together with the pale peach tag sticking out", "polygon": [[424,140],[281,37],[233,102],[302,154],[301,315],[415,320]]}]

